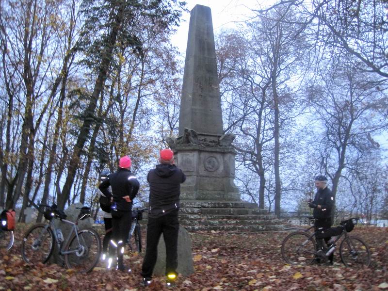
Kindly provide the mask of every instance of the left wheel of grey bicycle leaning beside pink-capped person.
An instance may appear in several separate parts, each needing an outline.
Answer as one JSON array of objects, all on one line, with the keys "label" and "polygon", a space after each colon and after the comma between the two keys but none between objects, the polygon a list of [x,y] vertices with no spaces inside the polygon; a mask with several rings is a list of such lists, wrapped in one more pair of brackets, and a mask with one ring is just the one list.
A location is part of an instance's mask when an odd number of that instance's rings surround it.
[{"label": "left wheel of grey bicycle leaning beside pink-capped person", "polygon": [[36,224],[30,227],[23,237],[21,257],[28,264],[46,263],[54,250],[54,242],[51,228],[45,224]]}]

